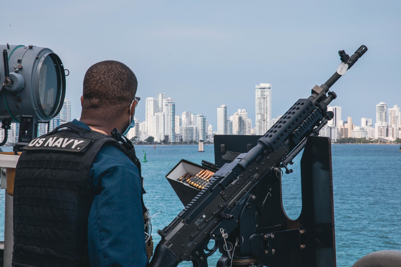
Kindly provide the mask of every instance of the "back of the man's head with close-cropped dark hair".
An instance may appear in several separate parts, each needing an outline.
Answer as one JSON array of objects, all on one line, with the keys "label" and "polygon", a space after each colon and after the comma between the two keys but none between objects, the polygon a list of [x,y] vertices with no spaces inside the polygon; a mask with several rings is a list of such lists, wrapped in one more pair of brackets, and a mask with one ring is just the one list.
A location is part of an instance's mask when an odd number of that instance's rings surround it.
[{"label": "back of the man's head with close-cropped dark hair", "polygon": [[105,119],[119,116],[135,97],[138,81],[125,64],[107,60],[92,65],[83,79],[82,114],[96,112]]}]

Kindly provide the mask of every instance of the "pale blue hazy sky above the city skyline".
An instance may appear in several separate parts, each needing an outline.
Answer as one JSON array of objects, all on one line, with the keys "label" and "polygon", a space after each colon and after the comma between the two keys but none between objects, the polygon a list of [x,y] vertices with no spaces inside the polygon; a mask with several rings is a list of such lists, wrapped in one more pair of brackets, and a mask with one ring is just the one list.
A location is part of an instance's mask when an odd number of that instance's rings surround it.
[{"label": "pale blue hazy sky above the city skyline", "polygon": [[[13,6],[14,5],[14,6]],[[86,70],[117,60],[145,99],[166,93],[202,113],[217,131],[217,107],[246,109],[255,123],[255,85],[271,83],[272,118],[307,98],[337,70],[339,50],[368,51],[331,88],[342,119],[376,120],[376,104],[401,106],[401,1],[18,1],[0,16],[1,44],[47,47],[69,70],[66,98],[81,114]],[[110,77],[111,79],[113,77]]]}]

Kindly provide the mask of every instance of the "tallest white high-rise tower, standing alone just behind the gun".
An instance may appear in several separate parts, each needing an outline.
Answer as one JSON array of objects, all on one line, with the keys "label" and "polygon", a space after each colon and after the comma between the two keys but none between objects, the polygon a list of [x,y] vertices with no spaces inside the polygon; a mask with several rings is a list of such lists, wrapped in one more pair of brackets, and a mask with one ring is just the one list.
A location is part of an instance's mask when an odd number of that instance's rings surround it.
[{"label": "tallest white high-rise tower, standing alone just behind the gun", "polygon": [[271,84],[255,86],[255,134],[263,135],[271,127]]}]

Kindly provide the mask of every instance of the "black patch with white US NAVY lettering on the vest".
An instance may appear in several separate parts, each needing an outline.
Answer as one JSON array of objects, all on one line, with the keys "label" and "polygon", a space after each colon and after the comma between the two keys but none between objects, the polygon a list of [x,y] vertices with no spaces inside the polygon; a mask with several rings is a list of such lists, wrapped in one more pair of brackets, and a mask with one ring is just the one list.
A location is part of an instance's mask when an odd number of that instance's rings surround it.
[{"label": "black patch with white US NAVY lettering on the vest", "polygon": [[71,138],[66,136],[47,136],[34,138],[24,146],[24,150],[55,150],[68,152],[84,152],[92,140],[85,138]]}]

